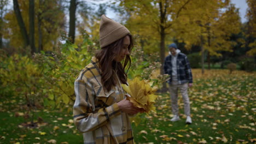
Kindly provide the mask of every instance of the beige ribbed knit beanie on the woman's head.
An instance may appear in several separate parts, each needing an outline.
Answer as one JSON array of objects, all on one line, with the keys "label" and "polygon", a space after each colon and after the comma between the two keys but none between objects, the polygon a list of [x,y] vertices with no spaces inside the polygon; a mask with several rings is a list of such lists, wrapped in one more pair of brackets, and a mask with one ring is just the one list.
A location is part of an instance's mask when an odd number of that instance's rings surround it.
[{"label": "beige ribbed knit beanie on the woman's head", "polygon": [[109,19],[105,15],[101,16],[101,26],[100,26],[100,44],[101,49],[104,46],[112,44],[114,41],[123,38],[125,35],[129,34],[130,31],[118,22]]}]

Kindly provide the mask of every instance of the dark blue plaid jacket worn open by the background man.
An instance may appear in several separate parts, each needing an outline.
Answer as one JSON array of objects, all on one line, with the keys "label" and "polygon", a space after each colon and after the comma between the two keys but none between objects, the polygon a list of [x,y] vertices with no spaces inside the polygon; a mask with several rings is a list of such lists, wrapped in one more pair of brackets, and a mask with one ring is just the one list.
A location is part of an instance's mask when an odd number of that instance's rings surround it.
[{"label": "dark blue plaid jacket worn open by the background man", "polygon": [[[172,82],[172,55],[165,58],[164,73],[170,75],[168,83]],[[187,56],[179,52],[177,56],[177,77],[179,85],[183,83],[193,83],[192,72]]]}]

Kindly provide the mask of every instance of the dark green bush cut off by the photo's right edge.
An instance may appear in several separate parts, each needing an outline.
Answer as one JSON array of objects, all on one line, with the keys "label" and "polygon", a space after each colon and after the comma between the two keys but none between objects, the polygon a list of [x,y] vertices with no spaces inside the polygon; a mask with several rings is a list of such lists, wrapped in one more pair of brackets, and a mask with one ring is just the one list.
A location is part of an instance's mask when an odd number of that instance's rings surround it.
[{"label": "dark green bush cut off by the photo's right edge", "polygon": [[248,72],[255,70],[255,61],[254,58],[251,57],[241,58],[239,65],[241,70],[246,70]]}]

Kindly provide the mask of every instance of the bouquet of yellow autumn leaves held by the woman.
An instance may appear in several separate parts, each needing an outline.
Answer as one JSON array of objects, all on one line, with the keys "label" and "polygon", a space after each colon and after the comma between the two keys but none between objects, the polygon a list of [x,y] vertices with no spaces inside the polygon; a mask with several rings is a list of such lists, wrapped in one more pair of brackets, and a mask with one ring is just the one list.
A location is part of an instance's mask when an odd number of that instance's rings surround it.
[{"label": "bouquet of yellow autumn leaves held by the woman", "polygon": [[124,91],[126,91],[131,97],[127,97],[131,103],[138,107],[143,108],[147,113],[149,111],[155,111],[155,99],[158,95],[155,95],[156,87],[151,87],[150,84],[144,80],[139,80],[137,77],[133,80],[128,80],[129,86],[122,85]]}]

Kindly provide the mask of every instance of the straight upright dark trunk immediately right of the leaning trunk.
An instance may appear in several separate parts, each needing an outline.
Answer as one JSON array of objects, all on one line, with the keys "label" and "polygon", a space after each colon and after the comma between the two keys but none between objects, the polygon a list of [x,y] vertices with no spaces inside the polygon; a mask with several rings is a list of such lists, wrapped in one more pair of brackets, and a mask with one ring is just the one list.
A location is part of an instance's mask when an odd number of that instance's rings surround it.
[{"label": "straight upright dark trunk immediately right of the leaning trunk", "polygon": [[29,15],[30,15],[30,48],[31,48],[31,55],[36,53],[36,47],[34,46],[34,0],[30,0],[30,7],[29,7]]}]

